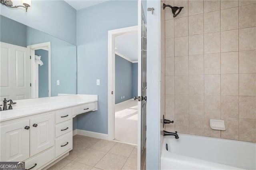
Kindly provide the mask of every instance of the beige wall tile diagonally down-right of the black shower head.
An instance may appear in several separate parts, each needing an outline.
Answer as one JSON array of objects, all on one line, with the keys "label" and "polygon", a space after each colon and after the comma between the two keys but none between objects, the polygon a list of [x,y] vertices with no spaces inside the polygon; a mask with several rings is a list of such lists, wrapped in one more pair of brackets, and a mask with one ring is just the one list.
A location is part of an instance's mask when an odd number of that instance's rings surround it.
[{"label": "beige wall tile diagonally down-right of the black shower head", "polygon": [[188,35],[204,34],[204,14],[188,16]]}]

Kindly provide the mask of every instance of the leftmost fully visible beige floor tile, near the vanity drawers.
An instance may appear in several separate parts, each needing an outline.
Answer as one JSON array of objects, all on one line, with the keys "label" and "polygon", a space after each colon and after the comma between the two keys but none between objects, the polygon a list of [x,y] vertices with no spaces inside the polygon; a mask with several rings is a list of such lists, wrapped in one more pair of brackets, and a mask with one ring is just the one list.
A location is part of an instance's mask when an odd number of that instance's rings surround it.
[{"label": "leftmost fully visible beige floor tile, near the vanity drawers", "polygon": [[79,155],[74,161],[94,166],[105,154],[106,152],[89,148],[83,154]]}]

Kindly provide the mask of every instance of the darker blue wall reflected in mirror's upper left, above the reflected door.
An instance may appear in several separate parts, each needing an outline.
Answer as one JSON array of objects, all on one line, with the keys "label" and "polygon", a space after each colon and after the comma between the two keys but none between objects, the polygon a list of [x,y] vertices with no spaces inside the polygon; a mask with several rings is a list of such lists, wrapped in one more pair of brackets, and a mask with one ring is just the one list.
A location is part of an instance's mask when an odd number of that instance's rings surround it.
[{"label": "darker blue wall reflected in mirror's upper left, above the reflected door", "polygon": [[27,26],[0,15],[0,42],[27,47]]}]

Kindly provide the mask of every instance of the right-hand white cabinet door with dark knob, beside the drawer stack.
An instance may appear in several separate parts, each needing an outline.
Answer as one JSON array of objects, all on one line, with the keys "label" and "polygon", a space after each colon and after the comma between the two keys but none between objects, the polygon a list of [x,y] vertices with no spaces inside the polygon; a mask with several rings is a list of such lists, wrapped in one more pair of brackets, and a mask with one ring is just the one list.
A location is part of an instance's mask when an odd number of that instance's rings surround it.
[{"label": "right-hand white cabinet door with dark knob, beside the drawer stack", "polygon": [[30,156],[54,145],[54,114],[30,119]]}]

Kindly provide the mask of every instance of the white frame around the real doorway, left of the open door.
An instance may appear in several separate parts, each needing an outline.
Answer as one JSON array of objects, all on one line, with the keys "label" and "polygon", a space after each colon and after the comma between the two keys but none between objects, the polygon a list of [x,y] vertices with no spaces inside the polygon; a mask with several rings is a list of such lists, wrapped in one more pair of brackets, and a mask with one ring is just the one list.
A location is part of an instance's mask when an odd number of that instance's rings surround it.
[{"label": "white frame around the real doorway, left of the open door", "polygon": [[108,140],[114,140],[115,135],[115,37],[134,32],[138,26],[108,31]]}]

